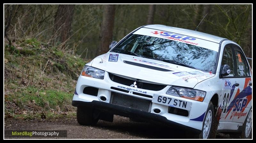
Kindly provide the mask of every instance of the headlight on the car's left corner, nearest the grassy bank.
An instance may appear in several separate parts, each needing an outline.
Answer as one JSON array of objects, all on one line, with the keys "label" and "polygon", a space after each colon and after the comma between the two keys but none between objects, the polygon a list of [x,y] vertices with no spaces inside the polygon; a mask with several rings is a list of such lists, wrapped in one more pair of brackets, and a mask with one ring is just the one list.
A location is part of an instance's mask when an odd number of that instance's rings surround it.
[{"label": "headlight on the car's left corner, nearest the grassy bank", "polygon": [[98,68],[93,68],[90,66],[84,66],[82,71],[83,76],[88,76],[88,77],[93,77],[98,79],[104,79],[104,74],[105,74],[105,71],[100,70]]}]

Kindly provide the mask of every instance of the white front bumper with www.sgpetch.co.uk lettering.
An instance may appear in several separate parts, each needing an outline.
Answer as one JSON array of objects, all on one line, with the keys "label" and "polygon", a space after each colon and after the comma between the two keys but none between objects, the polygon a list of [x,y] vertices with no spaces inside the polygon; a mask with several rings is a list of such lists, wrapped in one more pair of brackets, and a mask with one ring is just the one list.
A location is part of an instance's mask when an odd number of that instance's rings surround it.
[{"label": "white front bumper with www.sgpetch.co.uk lettering", "polygon": [[[121,88],[120,86],[122,86],[123,88]],[[95,95],[95,96],[92,96],[92,95],[88,95],[88,94],[83,93],[83,90],[84,90],[85,87],[98,88],[99,89],[98,94]],[[127,92],[124,92],[124,91],[118,91],[118,90],[112,89],[111,87],[118,88],[118,89],[124,89],[125,88],[126,90],[129,88],[131,90],[129,90],[128,93],[127,93]],[[111,99],[111,93],[112,92],[116,92],[116,93],[119,93],[119,94],[124,94],[124,95],[131,96],[131,97],[136,97],[136,98],[140,98],[140,99],[145,99],[145,100],[149,100],[149,101],[152,101],[152,98],[148,98],[148,97],[144,97],[144,96],[140,96],[140,95],[135,95],[133,93],[135,93],[135,92],[136,93],[143,93],[143,94],[147,94],[149,96],[153,96],[153,94],[164,95],[164,96],[167,96],[167,97],[169,96],[169,97],[172,97],[174,99],[180,99],[180,100],[185,100],[185,101],[192,102],[191,110],[189,111],[188,116],[170,114],[170,113],[168,113],[168,106],[165,106],[165,105],[162,105],[162,104],[157,104],[157,103],[152,103],[152,107],[151,107],[151,111],[149,112],[150,113],[149,115],[150,116],[152,115],[153,117],[155,117],[155,115],[161,116],[161,118],[164,117],[165,120],[175,122],[177,124],[182,124],[182,125],[185,125],[185,126],[197,129],[197,130],[202,130],[203,118],[204,118],[205,111],[208,107],[208,103],[194,101],[194,100],[185,99],[185,98],[181,98],[181,97],[173,97],[171,95],[167,95],[165,93],[169,88],[170,88],[170,85],[166,86],[163,90],[152,91],[152,90],[145,90],[145,89],[139,89],[139,88],[126,86],[126,85],[123,85],[123,84],[120,84],[120,83],[113,82],[109,78],[108,72],[105,72],[105,76],[104,76],[103,80],[80,75],[78,80],[77,80],[77,84],[76,84],[77,94],[74,94],[73,101],[74,102],[75,101],[82,101],[82,102],[84,102],[84,104],[90,104],[90,102],[94,103],[94,101],[100,101],[100,102],[108,103],[108,104],[104,104],[106,106],[112,106],[112,104],[110,104],[110,99]],[[100,99],[100,97],[102,97],[102,96],[104,96],[107,100],[102,101]],[[120,106],[118,106],[118,107],[123,108],[123,107],[120,107]],[[117,109],[119,109],[119,108],[117,108]],[[158,114],[154,113],[153,110],[155,108],[160,109],[161,112],[158,113]],[[127,108],[127,110],[131,111],[130,108]],[[135,110],[134,112],[136,112],[136,111],[137,110]],[[141,113],[141,114],[144,114],[144,113]]]}]

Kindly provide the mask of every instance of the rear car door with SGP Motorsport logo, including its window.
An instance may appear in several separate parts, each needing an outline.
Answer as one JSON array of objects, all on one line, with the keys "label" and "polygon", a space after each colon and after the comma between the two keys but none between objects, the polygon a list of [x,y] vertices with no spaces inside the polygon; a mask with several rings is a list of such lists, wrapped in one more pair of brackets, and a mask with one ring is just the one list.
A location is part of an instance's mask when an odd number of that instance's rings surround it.
[{"label": "rear car door with SGP Motorsport logo, including its window", "polygon": [[236,85],[238,91],[236,96],[231,102],[233,109],[231,109],[230,118],[232,122],[244,123],[244,120],[252,107],[252,80],[249,63],[246,60],[244,52],[240,47],[233,45],[233,51],[235,54],[235,75]]}]

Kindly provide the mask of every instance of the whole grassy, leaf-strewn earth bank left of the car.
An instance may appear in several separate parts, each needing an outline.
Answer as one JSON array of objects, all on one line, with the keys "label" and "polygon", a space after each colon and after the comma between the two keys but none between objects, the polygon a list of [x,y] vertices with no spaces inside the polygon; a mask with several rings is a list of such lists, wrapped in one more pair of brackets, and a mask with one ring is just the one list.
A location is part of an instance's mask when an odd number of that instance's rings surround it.
[{"label": "whole grassy, leaf-strewn earth bank left of the car", "polygon": [[77,78],[88,60],[36,39],[4,47],[5,118],[74,117]]}]

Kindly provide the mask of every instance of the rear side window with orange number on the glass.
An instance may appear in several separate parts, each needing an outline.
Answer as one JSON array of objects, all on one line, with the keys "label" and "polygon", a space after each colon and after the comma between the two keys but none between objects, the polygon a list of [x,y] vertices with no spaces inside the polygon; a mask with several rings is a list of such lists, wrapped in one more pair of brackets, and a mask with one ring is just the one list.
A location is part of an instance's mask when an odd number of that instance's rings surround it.
[{"label": "rear side window with orange number on the glass", "polygon": [[242,51],[235,47],[237,76],[249,76],[249,68]]}]

